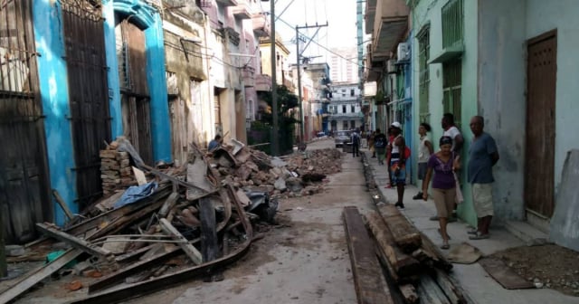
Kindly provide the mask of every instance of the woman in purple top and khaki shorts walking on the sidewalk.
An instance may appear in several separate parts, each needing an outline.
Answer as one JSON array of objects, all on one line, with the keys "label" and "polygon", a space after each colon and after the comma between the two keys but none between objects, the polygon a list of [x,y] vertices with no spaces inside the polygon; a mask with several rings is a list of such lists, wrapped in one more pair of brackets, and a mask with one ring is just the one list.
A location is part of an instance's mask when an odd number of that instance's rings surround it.
[{"label": "woman in purple top and khaki shorts walking on the sidewalk", "polygon": [[[452,149],[452,138],[441,137],[439,142],[441,150],[432,154],[428,159],[428,170],[422,183],[422,199],[428,200],[428,185],[432,179],[432,197],[436,205],[436,213],[441,226],[442,249],[449,249],[449,234],[446,233],[449,215],[454,208],[456,197],[456,182],[454,171],[460,169],[460,156],[455,155]],[[432,176],[434,172],[434,176]]]}]

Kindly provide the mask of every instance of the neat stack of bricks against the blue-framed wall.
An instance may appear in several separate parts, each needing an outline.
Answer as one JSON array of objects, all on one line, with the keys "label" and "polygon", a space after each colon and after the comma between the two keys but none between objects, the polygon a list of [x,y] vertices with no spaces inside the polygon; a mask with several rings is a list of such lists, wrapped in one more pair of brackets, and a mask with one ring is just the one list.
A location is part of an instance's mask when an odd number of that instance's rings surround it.
[{"label": "neat stack of bricks against the blue-framed wall", "polygon": [[132,175],[130,159],[127,152],[115,149],[100,150],[100,178],[102,179],[102,195],[109,197],[118,189],[137,185]]}]

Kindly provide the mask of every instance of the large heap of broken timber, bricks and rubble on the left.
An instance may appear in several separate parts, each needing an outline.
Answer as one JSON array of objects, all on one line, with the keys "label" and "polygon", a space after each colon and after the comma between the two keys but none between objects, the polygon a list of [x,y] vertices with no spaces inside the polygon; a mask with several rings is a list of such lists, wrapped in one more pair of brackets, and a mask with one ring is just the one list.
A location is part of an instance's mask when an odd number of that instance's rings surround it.
[{"label": "large heap of broken timber, bricks and rubble on the left", "polygon": [[317,193],[340,170],[334,149],[269,157],[233,141],[190,151],[179,167],[147,166],[122,137],[100,151],[108,197],[70,214],[63,228],[37,223],[45,237],[14,259],[48,262],[0,293],[0,303],[47,280],[74,290],[70,303],[117,302],[200,276],[221,280],[218,270],[249,250],[254,229],[275,223],[276,195]]}]

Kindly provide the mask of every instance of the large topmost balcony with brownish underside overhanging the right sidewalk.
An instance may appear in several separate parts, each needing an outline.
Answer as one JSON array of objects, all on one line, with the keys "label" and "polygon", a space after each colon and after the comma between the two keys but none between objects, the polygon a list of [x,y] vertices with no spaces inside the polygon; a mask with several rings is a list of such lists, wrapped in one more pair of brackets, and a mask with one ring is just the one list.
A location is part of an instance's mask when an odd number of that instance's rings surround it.
[{"label": "large topmost balcony with brownish underside overhanging the right sidewalk", "polygon": [[372,34],[373,61],[389,59],[390,52],[408,27],[409,8],[404,0],[383,0],[376,5]]}]

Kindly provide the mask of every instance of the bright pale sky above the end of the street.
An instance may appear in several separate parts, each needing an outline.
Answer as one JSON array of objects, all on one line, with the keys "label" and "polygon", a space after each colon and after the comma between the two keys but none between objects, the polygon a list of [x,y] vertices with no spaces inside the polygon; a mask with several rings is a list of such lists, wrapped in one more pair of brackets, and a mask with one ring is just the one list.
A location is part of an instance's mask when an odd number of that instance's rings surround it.
[{"label": "bright pale sky above the end of the street", "polygon": [[[327,48],[356,47],[356,2],[360,0],[276,0],[275,14],[280,19],[276,22],[276,32],[281,35],[283,43],[291,51],[289,62],[296,61],[296,45],[292,42],[296,35],[296,25],[325,25],[321,27],[314,41],[309,43],[305,56],[324,57],[313,62],[327,62]],[[261,2],[264,11],[270,11],[270,2]],[[286,8],[287,7],[287,8]],[[313,37],[316,28],[300,29],[299,32]],[[300,42],[301,45],[303,43]]]}]

